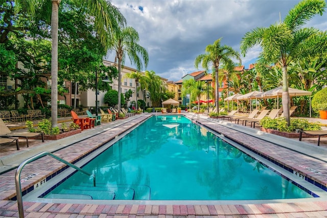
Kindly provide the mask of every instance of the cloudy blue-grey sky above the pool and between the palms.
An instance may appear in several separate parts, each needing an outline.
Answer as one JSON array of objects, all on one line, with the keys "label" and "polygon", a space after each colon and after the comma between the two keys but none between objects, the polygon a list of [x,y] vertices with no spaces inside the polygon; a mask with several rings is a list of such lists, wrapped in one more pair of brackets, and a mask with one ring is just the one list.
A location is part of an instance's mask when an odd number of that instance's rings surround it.
[{"label": "cloudy blue-grey sky above the pool and between the palms", "polygon": [[[244,34],[283,20],[297,0],[112,0],[139,34],[139,45],[149,54],[147,69],[169,80],[180,80],[198,71],[194,60],[205,47],[222,38],[221,45],[240,51]],[[280,16],[279,16],[280,14]],[[307,26],[327,30],[327,12],[316,15]],[[260,48],[253,48],[242,65],[248,69]],[[112,56],[112,55],[110,55]],[[113,61],[113,58],[109,58]],[[125,65],[131,66],[129,59]],[[202,70],[199,66],[199,70]]]}]

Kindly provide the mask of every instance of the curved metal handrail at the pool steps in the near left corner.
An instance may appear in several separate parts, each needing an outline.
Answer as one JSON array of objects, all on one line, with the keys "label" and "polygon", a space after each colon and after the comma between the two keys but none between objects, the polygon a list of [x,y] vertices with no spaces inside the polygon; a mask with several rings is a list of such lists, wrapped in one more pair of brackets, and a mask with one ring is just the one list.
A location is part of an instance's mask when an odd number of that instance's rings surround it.
[{"label": "curved metal handrail at the pool steps in the near left corner", "polygon": [[[37,154],[25,161],[23,161],[17,168],[16,170],[16,174],[15,174],[15,184],[16,184],[16,198],[17,198],[17,204],[18,204],[18,214],[19,214],[19,218],[24,218],[24,207],[22,204],[22,194],[21,194],[21,184],[20,184],[20,172],[22,170],[22,168],[28,164],[31,163],[32,161],[35,161],[36,159],[39,159],[43,156],[49,155],[50,157],[53,157],[54,159],[57,159],[58,161],[67,164],[70,167],[73,167],[74,169],[77,169],[78,171],[86,174],[87,176],[91,176],[91,173],[86,172],[85,170],[79,168],[78,166],[75,166],[74,164],[71,164],[65,160],[63,160],[62,158],[59,158],[58,156],[52,154],[49,151],[43,151],[40,154]],[[96,175],[93,174],[93,185],[96,186]]]}]

